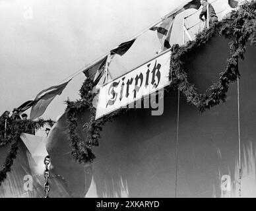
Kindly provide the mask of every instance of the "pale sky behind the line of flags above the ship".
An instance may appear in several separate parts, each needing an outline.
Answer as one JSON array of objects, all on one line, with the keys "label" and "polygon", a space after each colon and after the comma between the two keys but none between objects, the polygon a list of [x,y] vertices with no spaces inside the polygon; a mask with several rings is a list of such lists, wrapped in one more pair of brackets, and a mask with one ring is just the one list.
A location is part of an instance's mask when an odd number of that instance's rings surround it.
[{"label": "pale sky behind the line of flags above the ship", "polygon": [[[0,0],[0,115],[128,41],[184,1]],[[222,11],[227,2],[218,0],[213,4],[216,12]],[[194,11],[189,9],[177,16],[172,44],[181,44],[182,18]],[[198,22],[198,16],[188,23]],[[156,32],[146,32],[123,57],[115,57],[115,76],[154,57],[159,47]],[[83,74],[73,78],[43,117],[55,119],[63,113],[63,102],[68,97],[79,98],[83,81]]]}]

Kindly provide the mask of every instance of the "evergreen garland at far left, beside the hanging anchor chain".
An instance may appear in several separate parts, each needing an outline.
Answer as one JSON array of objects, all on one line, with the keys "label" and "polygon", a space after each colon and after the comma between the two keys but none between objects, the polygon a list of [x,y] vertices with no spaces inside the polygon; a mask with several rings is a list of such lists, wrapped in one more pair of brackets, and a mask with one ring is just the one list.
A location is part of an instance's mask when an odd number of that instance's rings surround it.
[{"label": "evergreen garland at far left, beside the hanging anchor chain", "polygon": [[51,119],[44,120],[38,119],[38,121],[31,120],[13,120],[11,118],[7,119],[7,127],[5,129],[5,119],[0,121],[0,147],[9,144],[9,152],[5,158],[5,163],[1,167],[0,171],[0,186],[7,177],[7,173],[11,171],[11,166],[13,165],[13,160],[16,158],[18,152],[18,140],[20,140],[20,135],[22,133],[27,133],[28,131],[38,130],[44,125],[48,124],[50,127],[53,126],[53,121]]}]

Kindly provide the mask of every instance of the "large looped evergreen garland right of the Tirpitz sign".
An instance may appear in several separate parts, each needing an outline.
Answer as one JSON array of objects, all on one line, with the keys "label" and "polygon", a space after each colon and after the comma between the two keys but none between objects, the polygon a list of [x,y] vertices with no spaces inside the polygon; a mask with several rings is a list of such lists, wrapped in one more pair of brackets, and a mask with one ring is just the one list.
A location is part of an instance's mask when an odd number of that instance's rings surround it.
[{"label": "large looped evergreen garland right of the Tirpitz sign", "polygon": [[[187,98],[189,104],[195,105],[200,111],[210,109],[210,107],[225,102],[228,85],[235,82],[240,73],[238,71],[238,59],[243,59],[245,45],[248,40],[256,45],[256,9],[255,3],[245,3],[238,11],[232,13],[231,20],[222,20],[214,24],[208,30],[197,34],[195,41],[188,42],[186,45],[174,45],[172,47],[172,57],[170,65],[170,80],[172,88],[178,88]],[[218,82],[212,84],[208,91],[210,95],[198,94],[197,89],[187,80],[187,73],[184,69],[184,58],[187,53],[196,51],[205,45],[210,38],[215,35],[233,39],[230,42],[230,58],[227,60],[226,69],[220,73]]]}]

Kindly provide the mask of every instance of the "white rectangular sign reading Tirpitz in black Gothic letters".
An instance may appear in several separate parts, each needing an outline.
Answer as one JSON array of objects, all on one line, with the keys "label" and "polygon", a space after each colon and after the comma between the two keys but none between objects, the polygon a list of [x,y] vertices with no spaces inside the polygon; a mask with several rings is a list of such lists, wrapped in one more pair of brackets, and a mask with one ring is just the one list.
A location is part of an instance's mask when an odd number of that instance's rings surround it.
[{"label": "white rectangular sign reading Tirpitz in black Gothic letters", "polygon": [[170,84],[170,51],[100,88],[96,119]]}]

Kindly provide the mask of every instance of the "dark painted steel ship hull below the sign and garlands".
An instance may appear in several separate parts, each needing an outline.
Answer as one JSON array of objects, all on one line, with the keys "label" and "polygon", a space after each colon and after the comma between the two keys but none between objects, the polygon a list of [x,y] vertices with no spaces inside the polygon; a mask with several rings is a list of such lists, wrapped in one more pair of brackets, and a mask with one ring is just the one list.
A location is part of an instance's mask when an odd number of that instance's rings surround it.
[{"label": "dark painted steel ship hull below the sign and garlands", "polygon": [[[205,92],[226,67],[229,55],[228,40],[213,38],[205,47],[186,58],[186,70],[191,83]],[[247,46],[245,60],[240,61],[241,142],[251,154],[243,153],[243,176],[255,169],[256,137],[256,50]],[[181,94],[179,113],[179,154],[177,171],[178,197],[224,196],[220,191],[220,177],[231,175],[236,179],[238,160],[238,102],[237,83],[231,84],[227,101],[205,113],[187,104]],[[88,111],[79,115],[79,134],[86,139],[82,125],[89,119]],[[149,109],[137,109],[106,123],[100,146],[93,148],[96,160],[92,166],[73,161],[71,146],[63,132],[67,127],[65,116],[62,123],[52,129],[47,150],[52,159],[52,172],[61,175],[65,184],[51,178],[51,197],[174,197],[176,184],[177,138],[177,90],[164,98],[164,114],[151,116]],[[252,143],[252,144],[251,144]],[[250,145],[251,144],[251,145]],[[1,162],[5,156],[1,150]],[[12,196],[21,194],[26,164],[26,148],[20,151],[3,187],[17,189]],[[247,152],[247,151],[244,151]],[[25,154],[24,154],[25,153]],[[23,165],[24,166],[24,165]],[[12,175],[12,176],[11,176]],[[255,181],[255,175],[252,175]],[[92,181],[92,182],[91,182]],[[252,181],[252,182],[253,182]],[[41,180],[40,186],[43,182]],[[90,189],[89,189],[90,187]],[[232,186],[233,188],[234,186]],[[89,190],[88,190],[89,189]],[[255,192],[255,185],[248,189]],[[243,192],[243,191],[242,191]],[[24,191],[23,191],[24,193]],[[26,195],[43,195],[42,191]],[[252,194],[251,194],[252,195]]]}]

